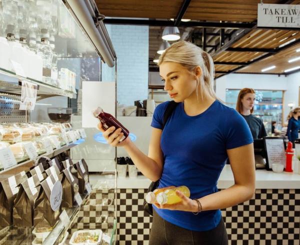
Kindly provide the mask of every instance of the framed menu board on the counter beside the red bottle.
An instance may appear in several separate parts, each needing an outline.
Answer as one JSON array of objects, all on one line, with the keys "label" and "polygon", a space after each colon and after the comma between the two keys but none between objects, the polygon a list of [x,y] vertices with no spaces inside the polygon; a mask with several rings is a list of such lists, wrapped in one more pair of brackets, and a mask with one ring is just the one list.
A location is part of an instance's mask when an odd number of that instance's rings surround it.
[{"label": "framed menu board on the counter beside the red bottle", "polygon": [[266,150],[266,168],[271,169],[272,164],[285,165],[285,149],[283,137],[265,137],[264,145]]}]

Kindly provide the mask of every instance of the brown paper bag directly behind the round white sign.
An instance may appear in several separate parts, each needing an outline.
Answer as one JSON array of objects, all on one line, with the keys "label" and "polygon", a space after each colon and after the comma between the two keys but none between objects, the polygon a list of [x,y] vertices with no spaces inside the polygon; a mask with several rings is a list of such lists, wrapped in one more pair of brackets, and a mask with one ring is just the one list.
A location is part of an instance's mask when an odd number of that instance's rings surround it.
[{"label": "brown paper bag directly behind the round white sign", "polygon": [[52,175],[46,177],[41,183],[38,196],[34,203],[33,225],[35,227],[53,227],[56,223],[61,206],[53,211],[50,204],[51,185],[55,183]]}]

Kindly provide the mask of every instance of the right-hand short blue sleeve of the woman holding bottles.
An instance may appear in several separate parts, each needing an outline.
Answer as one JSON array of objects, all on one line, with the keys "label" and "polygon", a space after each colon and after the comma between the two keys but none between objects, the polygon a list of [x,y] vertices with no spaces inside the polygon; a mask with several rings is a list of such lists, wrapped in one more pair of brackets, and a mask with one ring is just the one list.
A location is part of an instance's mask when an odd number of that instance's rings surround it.
[{"label": "right-hand short blue sleeve of the woman holding bottles", "polygon": [[226,149],[233,149],[253,142],[246,120],[235,110],[227,116],[224,131]]}]

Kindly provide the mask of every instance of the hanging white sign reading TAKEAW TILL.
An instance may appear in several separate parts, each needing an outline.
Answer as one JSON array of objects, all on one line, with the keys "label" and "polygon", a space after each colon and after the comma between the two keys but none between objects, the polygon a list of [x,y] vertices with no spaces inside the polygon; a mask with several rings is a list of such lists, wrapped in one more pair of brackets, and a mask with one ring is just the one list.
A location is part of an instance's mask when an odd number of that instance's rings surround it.
[{"label": "hanging white sign reading TAKEAW TILL", "polygon": [[257,6],[257,27],[300,28],[299,4],[258,3]]}]

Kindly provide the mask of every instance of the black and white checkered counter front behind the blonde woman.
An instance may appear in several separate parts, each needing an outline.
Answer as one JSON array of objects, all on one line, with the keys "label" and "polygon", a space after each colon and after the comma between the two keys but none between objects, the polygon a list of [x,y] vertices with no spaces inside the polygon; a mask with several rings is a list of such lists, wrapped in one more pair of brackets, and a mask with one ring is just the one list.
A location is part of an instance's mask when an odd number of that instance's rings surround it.
[{"label": "black and white checkered counter front behind the blonde woman", "polygon": [[[117,240],[148,244],[147,189],[117,189]],[[222,210],[229,244],[300,244],[300,189],[256,189],[255,197]]]}]

